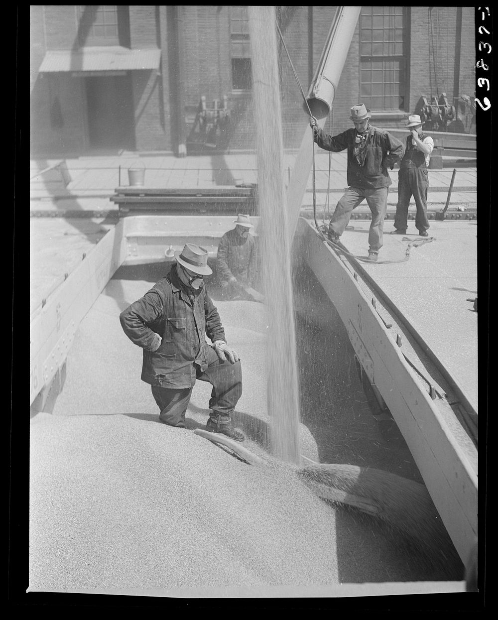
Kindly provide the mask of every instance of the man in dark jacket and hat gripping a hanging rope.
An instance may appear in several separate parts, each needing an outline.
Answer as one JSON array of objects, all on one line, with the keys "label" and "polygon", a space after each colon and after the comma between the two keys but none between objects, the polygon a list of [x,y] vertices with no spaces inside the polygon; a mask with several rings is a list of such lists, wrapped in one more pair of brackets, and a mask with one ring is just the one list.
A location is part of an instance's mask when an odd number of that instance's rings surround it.
[{"label": "man in dark jacket and hat gripping a hanging rope", "polygon": [[347,184],[349,187],[340,198],[329,223],[328,236],[339,241],[353,209],[367,200],[371,211],[368,234],[368,262],[377,262],[383,245],[384,219],[388,207],[391,185],[389,169],[393,169],[403,154],[403,145],[387,131],[370,125],[370,110],[364,104],[353,105],[350,120],[354,128],[331,136],[319,128],[316,118],[309,124],[314,131],[314,141],[326,151],[339,153],[347,149]]}]

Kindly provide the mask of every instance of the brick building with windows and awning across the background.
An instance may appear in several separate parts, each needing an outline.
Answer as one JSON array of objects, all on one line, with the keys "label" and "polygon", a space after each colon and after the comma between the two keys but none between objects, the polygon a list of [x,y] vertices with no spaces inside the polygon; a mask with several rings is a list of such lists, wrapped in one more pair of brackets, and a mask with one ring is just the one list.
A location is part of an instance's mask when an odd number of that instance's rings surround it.
[{"label": "brick building with windows and awning across the background", "polygon": [[[305,92],[336,9],[277,9]],[[402,127],[421,97],[445,93],[461,118],[445,130],[474,131],[464,101],[475,90],[474,10],[362,7],[332,129],[350,126],[357,102],[374,125]],[[246,6],[33,5],[30,21],[33,155],[254,148]],[[279,63],[284,143],[296,148],[303,102],[282,46]]]}]

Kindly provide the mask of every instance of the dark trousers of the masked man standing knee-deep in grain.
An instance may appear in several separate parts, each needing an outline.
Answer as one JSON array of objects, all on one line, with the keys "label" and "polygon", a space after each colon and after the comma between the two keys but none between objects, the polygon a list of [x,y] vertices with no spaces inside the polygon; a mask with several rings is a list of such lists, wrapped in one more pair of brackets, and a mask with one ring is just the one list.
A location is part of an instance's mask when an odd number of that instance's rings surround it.
[{"label": "dark trousers of the masked man standing knee-deep in grain", "polygon": [[[196,365],[197,379],[208,381],[213,389],[209,408],[222,415],[230,415],[242,395],[242,367],[240,361],[231,364],[228,360],[220,361],[213,348],[207,352],[208,368],[202,373]],[[192,387],[170,389],[169,387],[151,386],[152,395],[161,413],[161,422],[176,427],[185,427],[185,412],[189,406]]]}]

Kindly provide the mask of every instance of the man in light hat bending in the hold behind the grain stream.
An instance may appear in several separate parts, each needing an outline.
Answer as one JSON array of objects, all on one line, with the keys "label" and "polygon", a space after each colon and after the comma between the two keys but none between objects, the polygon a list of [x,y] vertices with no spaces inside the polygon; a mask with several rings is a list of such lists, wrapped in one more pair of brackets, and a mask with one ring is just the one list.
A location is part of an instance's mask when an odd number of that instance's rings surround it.
[{"label": "man in light hat bending in the hold behind the grain stream", "polygon": [[256,237],[248,215],[239,213],[235,228],[225,232],[218,244],[216,274],[221,286],[231,290],[237,284],[252,286],[257,273]]}]

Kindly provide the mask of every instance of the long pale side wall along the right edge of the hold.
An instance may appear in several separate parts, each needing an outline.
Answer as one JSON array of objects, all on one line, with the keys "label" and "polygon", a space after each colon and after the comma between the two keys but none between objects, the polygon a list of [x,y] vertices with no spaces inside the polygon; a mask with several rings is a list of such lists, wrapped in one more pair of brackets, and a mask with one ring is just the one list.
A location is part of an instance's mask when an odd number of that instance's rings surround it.
[{"label": "long pale side wall along the right edge of the hold", "polygon": [[[478,480],[394,337],[339,258],[300,220],[303,256],[345,325],[349,321],[373,361],[373,380],[424,478],[455,548],[465,562],[477,536]],[[354,345],[354,343],[352,343]],[[472,459],[476,462],[477,458]]]}]

